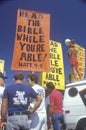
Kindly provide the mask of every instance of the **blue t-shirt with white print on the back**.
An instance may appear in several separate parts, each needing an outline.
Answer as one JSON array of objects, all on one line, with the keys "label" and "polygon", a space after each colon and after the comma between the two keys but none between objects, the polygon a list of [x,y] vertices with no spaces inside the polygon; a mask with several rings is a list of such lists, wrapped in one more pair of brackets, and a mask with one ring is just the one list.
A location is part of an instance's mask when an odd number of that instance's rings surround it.
[{"label": "blue t-shirt with white print on the back", "polygon": [[25,112],[29,106],[30,97],[36,98],[38,94],[24,84],[13,84],[4,90],[3,99],[8,100],[8,113]]}]

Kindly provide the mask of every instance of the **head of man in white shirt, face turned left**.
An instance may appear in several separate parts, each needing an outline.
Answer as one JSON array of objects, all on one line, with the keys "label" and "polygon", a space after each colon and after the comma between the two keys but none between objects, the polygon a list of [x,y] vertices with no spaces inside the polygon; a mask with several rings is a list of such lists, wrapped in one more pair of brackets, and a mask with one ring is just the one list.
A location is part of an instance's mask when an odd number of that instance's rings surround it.
[{"label": "head of man in white shirt, face turned left", "polygon": [[38,76],[36,74],[30,74],[27,76],[28,85],[33,86],[38,84]]}]

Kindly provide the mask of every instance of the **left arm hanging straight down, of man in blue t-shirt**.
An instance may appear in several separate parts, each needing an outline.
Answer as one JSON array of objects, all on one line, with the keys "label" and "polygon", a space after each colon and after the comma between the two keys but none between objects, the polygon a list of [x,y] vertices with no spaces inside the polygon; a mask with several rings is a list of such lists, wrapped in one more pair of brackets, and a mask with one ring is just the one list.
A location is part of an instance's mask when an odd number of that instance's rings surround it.
[{"label": "left arm hanging straight down, of man in blue t-shirt", "polygon": [[5,122],[6,120],[7,107],[8,107],[8,100],[2,99],[2,105],[1,105],[1,121],[2,122]]}]

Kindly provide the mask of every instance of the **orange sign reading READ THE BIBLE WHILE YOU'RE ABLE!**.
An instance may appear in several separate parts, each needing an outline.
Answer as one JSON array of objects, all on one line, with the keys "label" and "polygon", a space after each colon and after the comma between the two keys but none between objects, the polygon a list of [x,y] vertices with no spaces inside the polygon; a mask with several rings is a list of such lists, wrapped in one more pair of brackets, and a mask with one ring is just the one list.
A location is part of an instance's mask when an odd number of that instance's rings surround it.
[{"label": "orange sign reading READ THE BIBLE WHILE YOU'RE ABLE!", "polygon": [[50,14],[18,10],[12,70],[50,70]]}]

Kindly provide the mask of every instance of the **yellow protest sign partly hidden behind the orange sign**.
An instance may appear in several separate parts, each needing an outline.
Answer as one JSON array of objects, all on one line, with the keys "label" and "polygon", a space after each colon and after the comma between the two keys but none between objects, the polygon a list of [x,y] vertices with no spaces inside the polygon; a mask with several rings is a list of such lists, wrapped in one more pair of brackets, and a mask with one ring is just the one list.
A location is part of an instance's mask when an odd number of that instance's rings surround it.
[{"label": "yellow protest sign partly hidden behind the orange sign", "polygon": [[53,82],[56,89],[64,90],[65,75],[61,43],[50,41],[50,72],[42,72],[40,79],[44,87],[47,82]]}]

